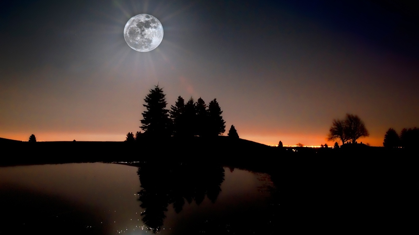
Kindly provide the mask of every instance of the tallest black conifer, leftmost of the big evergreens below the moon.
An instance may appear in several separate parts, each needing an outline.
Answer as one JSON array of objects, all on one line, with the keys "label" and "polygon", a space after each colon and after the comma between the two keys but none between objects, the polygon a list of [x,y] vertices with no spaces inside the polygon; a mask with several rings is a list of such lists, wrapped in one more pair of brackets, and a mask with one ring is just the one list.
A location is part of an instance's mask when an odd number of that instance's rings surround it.
[{"label": "tallest black conifer, leftmost of the big evergreens below the moon", "polygon": [[150,89],[150,93],[145,97],[146,111],[142,113],[141,120],[144,134],[149,137],[168,137],[171,135],[171,120],[169,118],[169,110],[166,109],[166,95],[163,89],[155,86]]}]

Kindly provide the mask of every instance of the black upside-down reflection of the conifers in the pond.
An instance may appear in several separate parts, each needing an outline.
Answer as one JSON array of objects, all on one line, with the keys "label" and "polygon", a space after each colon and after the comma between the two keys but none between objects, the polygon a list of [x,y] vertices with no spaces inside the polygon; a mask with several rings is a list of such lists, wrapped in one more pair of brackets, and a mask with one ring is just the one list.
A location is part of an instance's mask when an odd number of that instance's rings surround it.
[{"label": "black upside-down reflection of the conifers in the pond", "polygon": [[224,181],[224,169],[211,164],[142,163],[137,173],[142,187],[138,200],[145,209],[142,221],[154,233],[163,226],[169,204],[173,203],[173,209],[179,213],[185,200],[199,205],[207,196],[214,203]]}]

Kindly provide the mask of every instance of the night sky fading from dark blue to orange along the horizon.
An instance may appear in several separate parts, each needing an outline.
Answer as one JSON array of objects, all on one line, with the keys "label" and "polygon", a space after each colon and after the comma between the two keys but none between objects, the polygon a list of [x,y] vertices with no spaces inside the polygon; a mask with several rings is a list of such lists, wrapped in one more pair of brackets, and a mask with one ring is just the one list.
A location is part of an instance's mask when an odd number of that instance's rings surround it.
[{"label": "night sky fading from dark blue to orange along the horizon", "polygon": [[[217,98],[240,138],[320,145],[333,119],[385,132],[419,127],[419,16],[400,1],[32,0],[0,3],[0,137],[123,141],[159,84]],[[134,15],[163,41],[124,40]]]}]

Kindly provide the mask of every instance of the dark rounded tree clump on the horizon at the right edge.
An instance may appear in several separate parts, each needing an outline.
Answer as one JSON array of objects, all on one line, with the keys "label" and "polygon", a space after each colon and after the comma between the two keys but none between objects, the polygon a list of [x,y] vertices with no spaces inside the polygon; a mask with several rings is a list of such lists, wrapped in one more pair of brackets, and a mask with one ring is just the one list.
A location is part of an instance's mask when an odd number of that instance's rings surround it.
[{"label": "dark rounded tree clump on the horizon at the right edge", "polygon": [[387,148],[413,148],[418,146],[419,143],[419,129],[418,128],[403,128],[400,135],[396,130],[389,128],[384,135],[383,146]]}]

